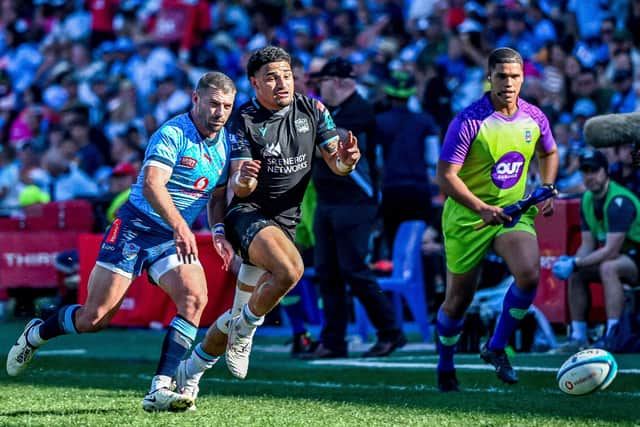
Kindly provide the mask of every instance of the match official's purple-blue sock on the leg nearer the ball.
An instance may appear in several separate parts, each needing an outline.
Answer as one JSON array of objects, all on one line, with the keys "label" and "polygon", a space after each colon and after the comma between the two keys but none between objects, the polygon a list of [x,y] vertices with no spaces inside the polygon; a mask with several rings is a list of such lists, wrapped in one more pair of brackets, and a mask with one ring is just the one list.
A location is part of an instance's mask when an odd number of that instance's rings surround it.
[{"label": "match official's purple-blue sock on the leg nearer the ball", "polygon": [[502,301],[502,313],[498,318],[496,329],[489,340],[489,350],[504,350],[518,323],[527,314],[535,296],[535,290],[524,292],[516,286],[515,282],[511,283]]}]

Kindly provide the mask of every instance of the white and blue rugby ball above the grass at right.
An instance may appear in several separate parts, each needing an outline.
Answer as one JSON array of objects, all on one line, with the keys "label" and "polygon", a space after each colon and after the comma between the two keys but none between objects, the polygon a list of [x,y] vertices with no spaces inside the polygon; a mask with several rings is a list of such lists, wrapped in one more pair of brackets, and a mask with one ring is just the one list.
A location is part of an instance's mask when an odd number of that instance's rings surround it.
[{"label": "white and blue rugby ball above the grass at right", "polygon": [[618,364],[608,351],[582,350],[562,364],[556,380],[560,390],[574,396],[604,390],[618,374]]}]

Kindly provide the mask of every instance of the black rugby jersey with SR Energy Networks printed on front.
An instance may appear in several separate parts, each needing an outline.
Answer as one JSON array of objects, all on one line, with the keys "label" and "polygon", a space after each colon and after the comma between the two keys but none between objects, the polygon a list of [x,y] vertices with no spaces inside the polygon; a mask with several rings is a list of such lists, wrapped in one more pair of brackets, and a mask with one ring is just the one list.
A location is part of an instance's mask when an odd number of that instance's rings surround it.
[{"label": "black rugby jersey with SR Energy Networks printed on front", "polygon": [[300,94],[278,111],[264,108],[254,96],[233,114],[227,128],[231,160],[261,162],[256,189],[248,197],[234,197],[230,208],[251,202],[272,215],[300,206],[316,145],[337,143],[338,138],[327,108]]}]

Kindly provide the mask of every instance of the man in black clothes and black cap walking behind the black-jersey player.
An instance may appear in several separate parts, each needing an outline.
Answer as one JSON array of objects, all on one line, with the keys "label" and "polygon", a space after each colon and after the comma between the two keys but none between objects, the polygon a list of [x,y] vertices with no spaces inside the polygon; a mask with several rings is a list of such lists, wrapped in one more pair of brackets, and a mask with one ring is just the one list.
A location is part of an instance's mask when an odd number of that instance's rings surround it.
[{"label": "man in black clothes and black cap walking behind the black-jersey player", "polygon": [[303,357],[347,355],[347,284],[378,331],[377,343],[363,356],[386,356],[407,340],[396,324],[393,306],[367,263],[372,225],[378,211],[378,192],[372,173],[375,167],[372,134],[376,125],[373,107],[356,92],[353,69],[345,59],[330,59],[310,77],[317,79],[320,95],[336,126],[349,129],[358,137],[363,157],[349,176],[336,175],[322,162],[313,169],[318,196],[314,264],[325,321],[320,345]]}]

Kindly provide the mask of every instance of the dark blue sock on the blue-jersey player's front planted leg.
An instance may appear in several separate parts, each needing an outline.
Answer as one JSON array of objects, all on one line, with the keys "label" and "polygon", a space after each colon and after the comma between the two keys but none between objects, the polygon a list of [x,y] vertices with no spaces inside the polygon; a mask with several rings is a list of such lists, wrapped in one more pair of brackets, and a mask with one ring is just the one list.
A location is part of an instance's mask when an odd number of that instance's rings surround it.
[{"label": "dark blue sock on the blue-jersey player's front planted leg", "polygon": [[184,317],[177,315],[169,324],[169,330],[162,343],[162,353],[156,375],[173,377],[180,361],[196,339],[198,328]]}]

